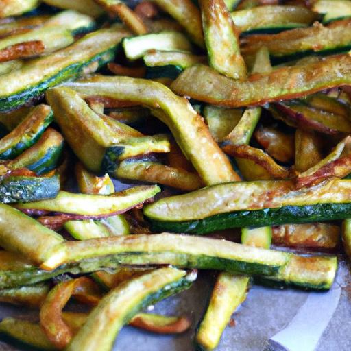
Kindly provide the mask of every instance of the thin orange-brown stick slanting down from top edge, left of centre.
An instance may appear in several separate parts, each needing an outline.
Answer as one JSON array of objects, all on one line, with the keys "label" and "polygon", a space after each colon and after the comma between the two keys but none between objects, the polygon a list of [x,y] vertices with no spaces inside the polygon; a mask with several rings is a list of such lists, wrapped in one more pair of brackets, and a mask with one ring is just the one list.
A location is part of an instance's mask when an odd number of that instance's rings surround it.
[{"label": "thin orange-brown stick slanting down from top edge, left of centre", "polygon": [[95,2],[110,14],[117,14],[121,21],[135,34],[147,33],[147,27],[142,19],[132,9],[128,8],[125,3],[119,0],[95,0]]}]

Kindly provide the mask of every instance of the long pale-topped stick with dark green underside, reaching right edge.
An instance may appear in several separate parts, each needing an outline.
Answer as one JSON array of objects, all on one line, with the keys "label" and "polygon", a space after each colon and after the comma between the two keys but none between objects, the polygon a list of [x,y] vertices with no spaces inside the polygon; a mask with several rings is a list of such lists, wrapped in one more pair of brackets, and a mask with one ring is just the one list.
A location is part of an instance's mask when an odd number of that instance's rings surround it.
[{"label": "long pale-topped stick with dark green underside, reaching right edge", "polygon": [[[156,231],[197,234],[243,226],[337,220],[348,217],[350,187],[350,180],[330,180],[298,191],[289,180],[219,184],[158,200],[145,206],[144,213]],[[273,197],[266,197],[268,193]]]}]

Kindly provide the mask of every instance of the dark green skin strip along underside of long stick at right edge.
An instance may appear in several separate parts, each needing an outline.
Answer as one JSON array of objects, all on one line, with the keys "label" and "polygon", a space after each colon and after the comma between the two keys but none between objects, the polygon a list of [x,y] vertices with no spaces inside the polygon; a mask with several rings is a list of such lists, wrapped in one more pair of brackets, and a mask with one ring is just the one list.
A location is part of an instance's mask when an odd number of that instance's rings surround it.
[{"label": "dark green skin strip along underside of long stick at right edge", "polygon": [[350,217],[351,204],[316,204],[284,206],[263,210],[243,210],[221,213],[194,221],[156,221],[149,219],[153,232],[206,234],[216,230],[246,226],[273,226],[287,223],[336,221]]}]

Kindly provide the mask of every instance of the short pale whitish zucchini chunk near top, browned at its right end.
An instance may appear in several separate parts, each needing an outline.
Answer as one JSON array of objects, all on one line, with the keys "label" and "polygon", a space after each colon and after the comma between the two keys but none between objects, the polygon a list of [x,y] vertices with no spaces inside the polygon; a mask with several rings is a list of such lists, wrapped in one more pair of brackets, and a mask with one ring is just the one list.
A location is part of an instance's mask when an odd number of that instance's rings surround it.
[{"label": "short pale whitish zucchini chunk near top, browned at its right end", "polygon": [[130,60],[141,58],[149,50],[191,51],[189,40],[179,32],[160,32],[125,38],[122,42],[125,56]]}]

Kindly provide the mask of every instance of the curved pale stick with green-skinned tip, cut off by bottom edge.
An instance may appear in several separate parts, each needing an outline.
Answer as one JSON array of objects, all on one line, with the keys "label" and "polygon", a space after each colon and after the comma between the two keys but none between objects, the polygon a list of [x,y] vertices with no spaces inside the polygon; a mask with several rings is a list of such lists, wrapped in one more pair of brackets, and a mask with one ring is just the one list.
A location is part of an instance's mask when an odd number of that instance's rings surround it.
[{"label": "curved pale stick with green-skinned tip, cut off by bottom edge", "polygon": [[186,272],[160,268],[113,289],[90,313],[66,350],[112,349],[124,324],[142,308],[190,287]]}]

